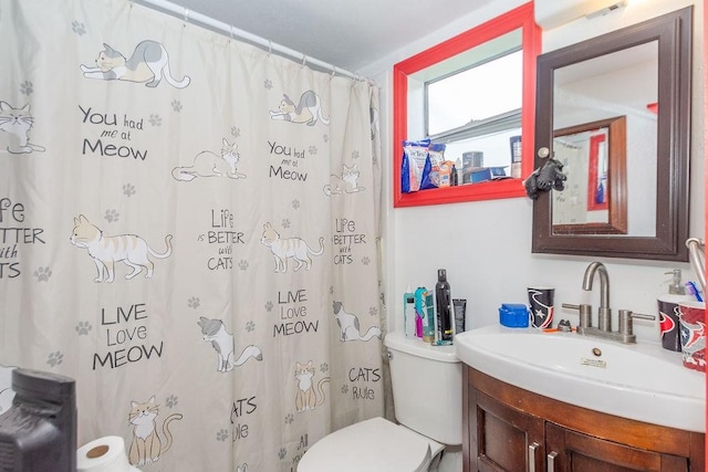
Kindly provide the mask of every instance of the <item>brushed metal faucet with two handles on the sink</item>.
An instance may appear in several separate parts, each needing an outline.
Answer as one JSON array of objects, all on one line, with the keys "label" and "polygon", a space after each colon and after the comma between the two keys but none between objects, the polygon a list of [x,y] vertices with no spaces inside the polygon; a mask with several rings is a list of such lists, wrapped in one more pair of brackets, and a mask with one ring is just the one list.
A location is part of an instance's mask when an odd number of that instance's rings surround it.
[{"label": "brushed metal faucet with two handles on the sink", "polygon": [[607,269],[602,262],[591,262],[585,269],[583,276],[583,290],[593,290],[593,280],[595,273],[600,276],[600,308],[597,308],[597,327],[592,325],[593,308],[589,304],[573,305],[563,303],[563,307],[573,308],[580,312],[580,325],[577,325],[577,334],[585,336],[596,336],[606,339],[617,340],[624,344],[636,343],[636,336],[632,329],[632,319],[655,319],[653,315],[642,315],[632,313],[629,310],[620,311],[620,331],[612,331],[612,311],[610,310],[610,276]]}]

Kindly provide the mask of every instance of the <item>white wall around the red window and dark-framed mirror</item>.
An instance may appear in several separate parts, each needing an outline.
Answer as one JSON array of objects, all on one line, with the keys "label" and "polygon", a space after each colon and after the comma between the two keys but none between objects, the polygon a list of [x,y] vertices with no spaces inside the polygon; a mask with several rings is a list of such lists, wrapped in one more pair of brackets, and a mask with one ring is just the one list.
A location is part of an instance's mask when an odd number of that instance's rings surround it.
[{"label": "white wall around the red window and dark-framed mirror", "polygon": [[[556,1],[556,0],[540,0]],[[389,329],[403,328],[402,300],[407,285],[433,289],[438,268],[445,268],[452,296],[468,301],[468,328],[498,323],[501,303],[527,303],[525,289],[532,284],[555,287],[555,319],[577,316],[560,310],[561,303],[600,304],[598,284],[595,290],[581,289],[583,273],[591,260],[607,266],[611,281],[610,302],[613,324],[620,308],[656,314],[656,297],[666,292],[670,275],[665,272],[679,268],[684,279],[696,280],[688,263],[583,258],[531,253],[532,202],[527,198],[452,203],[418,208],[393,208],[393,145],[392,145],[392,70],[406,57],[445,41],[462,31],[503,13],[522,1],[494,1],[475,14],[460,18],[447,28],[435,31],[363,71],[382,85],[382,145],[386,159],[384,198],[384,242],[386,302]],[[644,0],[631,3],[620,12],[593,20],[581,18],[572,23],[543,32],[543,52],[575,43],[626,24],[636,23],[688,4],[690,0]],[[694,70],[691,123],[691,207],[690,235],[704,238],[704,116],[702,116],[702,1],[694,9]],[[658,327],[652,322],[635,322],[635,333],[643,340],[658,342]]]}]

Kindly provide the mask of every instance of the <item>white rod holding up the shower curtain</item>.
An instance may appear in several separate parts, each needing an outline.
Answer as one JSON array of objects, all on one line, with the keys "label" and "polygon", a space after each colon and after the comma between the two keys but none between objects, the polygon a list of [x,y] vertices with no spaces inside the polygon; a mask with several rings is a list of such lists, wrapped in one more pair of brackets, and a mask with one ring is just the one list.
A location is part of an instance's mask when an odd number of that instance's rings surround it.
[{"label": "white rod holding up the shower curtain", "polygon": [[344,69],[337,67],[336,65],[333,64],[329,64],[324,61],[320,61],[314,57],[310,57],[304,53],[301,53],[299,51],[295,51],[293,49],[290,49],[288,46],[284,46],[282,44],[278,44],[274,43],[272,41],[266,40],[261,36],[258,36],[256,34],[249,33],[247,31],[243,31],[241,29],[238,29],[231,24],[225,23],[222,21],[219,20],[215,20],[211,17],[207,17],[206,14],[199,13],[197,11],[194,10],[189,10],[186,7],[180,7],[176,3],[173,3],[171,1],[167,1],[167,0],[131,0],[134,1],[135,3],[138,4],[143,4],[145,7],[150,7],[153,9],[157,9],[167,13],[173,14],[174,17],[177,18],[183,18],[185,20],[185,22],[194,22],[194,23],[198,23],[202,27],[207,27],[210,30],[215,30],[218,33],[225,34],[225,35],[229,35],[231,38],[240,38],[242,40],[246,40],[248,42],[254,43],[259,46],[262,46],[263,49],[268,49],[268,51],[272,51],[272,52],[277,52],[280,53],[282,55],[295,59],[298,61],[302,61],[302,63],[304,64],[305,62],[309,62],[310,64],[316,65],[317,67],[327,70],[327,71],[332,71],[333,74],[340,74],[340,75],[344,75],[347,76],[350,78],[354,78],[357,81],[363,81],[365,80],[364,77],[346,71]]}]

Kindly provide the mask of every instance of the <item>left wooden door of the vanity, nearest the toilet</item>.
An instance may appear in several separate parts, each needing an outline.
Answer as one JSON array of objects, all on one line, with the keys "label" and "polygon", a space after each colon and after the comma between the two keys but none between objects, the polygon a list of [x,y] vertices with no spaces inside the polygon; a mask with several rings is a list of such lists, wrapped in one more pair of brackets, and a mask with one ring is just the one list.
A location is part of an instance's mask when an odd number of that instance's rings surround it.
[{"label": "left wooden door of the vanity, nearest the toilet", "polygon": [[469,389],[470,470],[543,471],[543,420]]}]

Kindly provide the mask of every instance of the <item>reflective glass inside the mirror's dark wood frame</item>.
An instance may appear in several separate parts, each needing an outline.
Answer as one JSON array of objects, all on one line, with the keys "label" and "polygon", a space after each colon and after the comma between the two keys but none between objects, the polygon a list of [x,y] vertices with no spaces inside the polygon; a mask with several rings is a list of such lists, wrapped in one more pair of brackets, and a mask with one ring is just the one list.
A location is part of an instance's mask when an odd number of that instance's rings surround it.
[{"label": "reflective glass inside the mirror's dark wood frame", "polygon": [[[561,160],[568,172],[569,186],[565,191],[553,191],[552,214],[553,232],[568,234],[576,231],[579,234],[604,234],[604,228],[576,225],[568,228],[558,224],[584,222],[610,223],[608,202],[611,199],[622,199],[628,208],[632,219],[628,228],[611,231],[614,234],[654,237],[656,228],[656,186],[646,185],[656,181],[656,144],[658,101],[658,41],[650,41],[633,48],[627,48],[611,54],[593,57],[575,64],[570,64],[553,71],[553,129],[582,126],[584,123],[607,119],[615,116],[624,117],[625,146],[616,143],[615,155],[608,156],[610,139],[591,147],[590,136],[585,141],[571,144],[569,137],[554,138],[553,153]],[[608,132],[608,128],[605,128]],[[586,133],[595,134],[593,129]],[[594,138],[597,143],[598,138]],[[580,146],[579,146],[580,144]],[[624,147],[624,148],[623,148]],[[601,156],[610,160],[595,159],[607,167],[613,160],[627,159],[626,166],[632,169],[627,176],[629,181],[613,181],[622,176],[595,170],[598,181],[589,189],[587,161],[592,153],[600,151]],[[577,158],[571,158],[571,156]],[[561,157],[563,157],[561,159]],[[579,164],[583,164],[582,166]],[[608,168],[607,168],[608,170]],[[593,172],[590,172],[593,174]],[[587,176],[590,177],[590,176]],[[613,186],[614,183],[614,186]],[[594,195],[589,197],[589,193]],[[624,195],[616,195],[625,192]],[[582,193],[582,195],[581,195]],[[594,204],[600,200],[605,204]],[[559,208],[560,207],[560,208]],[[582,210],[581,211],[581,207]],[[604,211],[600,211],[604,210]],[[560,213],[560,214],[559,214]]]}]

